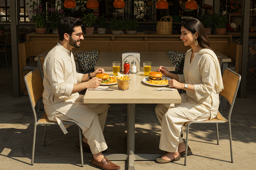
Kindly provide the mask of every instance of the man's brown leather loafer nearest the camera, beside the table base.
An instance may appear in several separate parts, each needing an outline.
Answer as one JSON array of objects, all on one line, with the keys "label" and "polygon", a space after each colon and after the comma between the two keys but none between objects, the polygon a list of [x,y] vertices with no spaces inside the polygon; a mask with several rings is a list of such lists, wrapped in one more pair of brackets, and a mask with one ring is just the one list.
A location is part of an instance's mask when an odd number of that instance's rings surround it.
[{"label": "man's brown leather loafer nearest the camera, beside the table base", "polygon": [[104,157],[101,162],[95,160],[93,157],[91,157],[91,166],[98,167],[103,170],[120,170],[120,166],[117,166],[116,164],[109,161],[106,157]]}]

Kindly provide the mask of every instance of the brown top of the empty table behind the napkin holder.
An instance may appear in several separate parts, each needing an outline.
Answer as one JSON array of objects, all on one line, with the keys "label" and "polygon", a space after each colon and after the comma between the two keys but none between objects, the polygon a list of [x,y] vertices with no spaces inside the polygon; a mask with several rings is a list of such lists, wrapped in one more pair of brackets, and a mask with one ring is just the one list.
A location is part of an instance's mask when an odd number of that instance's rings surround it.
[{"label": "brown top of the empty table behind the napkin holder", "polygon": [[[165,66],[169,71],[175,71],[175,66],[168,58],[165,52],[138,52],[140,53],[140,71],[144,71],[143,62],[152,62],[151,71],[158,71],[159,66]],[[122,52],[101,52],[95,65],[97,68],[104,68],[105,71],[113,71],[112,62],[119,61],[122,63]],[[136,64],[138,67],[138,64]],[[120,66],[122,70],[122,64]]]}]

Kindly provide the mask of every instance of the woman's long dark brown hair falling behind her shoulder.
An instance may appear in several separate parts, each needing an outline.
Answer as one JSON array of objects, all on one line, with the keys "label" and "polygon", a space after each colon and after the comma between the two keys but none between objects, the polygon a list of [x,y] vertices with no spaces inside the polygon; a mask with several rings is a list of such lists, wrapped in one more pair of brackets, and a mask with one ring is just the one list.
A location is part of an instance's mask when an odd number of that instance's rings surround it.
[{"label": "woman's long dark brown hair falling behind her shoulder", "polygon": [[192,32],[192,34],[195,34],[197,32],[197,34],[198,34],[197,41],[198,41],[199,45],[201,45],[204,48],[211,49],[210,43],[209,43],[209,38],[206,35],[204,26],[198,19],[195,19],[195,18],[188,19],[185,22],[183,22],[181,24],[181,26],[183,26],[184,28],[186,28],[187,30]]}]

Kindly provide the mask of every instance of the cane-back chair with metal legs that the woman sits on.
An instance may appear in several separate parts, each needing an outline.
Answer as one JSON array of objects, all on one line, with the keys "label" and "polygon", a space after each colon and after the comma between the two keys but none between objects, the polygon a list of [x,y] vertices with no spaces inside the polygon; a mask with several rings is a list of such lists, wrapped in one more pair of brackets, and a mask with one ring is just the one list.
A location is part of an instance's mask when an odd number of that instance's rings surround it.
[{"label": "cane-back chair with metal legs that the woman sits on", "polygon": [[188,132],[189,132],[189,126],[192,123],[216,123],[216,133],[217,133],[217,144],[219,145],[219,132],[218,132],[218,123],[226,123],[229,125],[229,141],[230,141],[230,151],[231,151],[231,162],[233,163],[233,149],[232,149],[232,138],[231,138],[231,112],[233,110],[233,106],[235,103],[235,98],[237,96],[238,87],[240,84],[241,76],[229,68],[225,69],[222,81],[224,89],[219,93],[221,97],[225,98],[229,104],[231,104],[228,119],[225,119],[223,115],[218,111],[217,116],[211,120],[206,121],[189,121],[184,123],[184,126],[187,127],[187,133],[186,133],[186,150],[185,150],[185,161],[184,165],[186,165],[187,160],[187,151],[188,151]]}]

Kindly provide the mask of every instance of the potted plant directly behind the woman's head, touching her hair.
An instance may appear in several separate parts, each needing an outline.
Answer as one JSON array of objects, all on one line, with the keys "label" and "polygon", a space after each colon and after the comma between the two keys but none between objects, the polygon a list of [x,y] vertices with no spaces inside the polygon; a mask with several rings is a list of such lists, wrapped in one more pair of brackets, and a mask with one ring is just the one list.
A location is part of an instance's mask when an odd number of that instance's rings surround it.
[{"label": "potted plant directly behind the woman's head, touching her hair", "polygon": [[204,29],[206,30],[206,34],[207,35],[211,34],[211,30],[215,28],[214,17],[209,13],[205,13],[200,18],[200,21],[204,26]]}]

